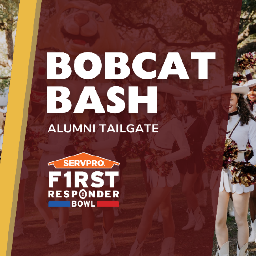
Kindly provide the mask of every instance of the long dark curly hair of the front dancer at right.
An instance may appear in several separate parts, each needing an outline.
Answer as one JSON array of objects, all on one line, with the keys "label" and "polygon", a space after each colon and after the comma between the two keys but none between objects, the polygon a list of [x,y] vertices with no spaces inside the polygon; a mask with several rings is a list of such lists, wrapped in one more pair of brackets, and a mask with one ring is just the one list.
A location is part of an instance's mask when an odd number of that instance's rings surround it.
[{"label": "long dark curly hair of the front dancer at right", "polygon": [[[250,119],[254,120],[254,117],[250,111],[250,107],[248,105],[247,100],[243,97],[243,95],[239,93],[234,93],[237,98],[238,98],[238,106],[239,106],[239,117],[241,118],[240,120],[240,125],[243,126],[244,124],[248,124]],[[227,116],[226,111],[224,111],[222,105],[221,105],[221,100],[219,101],[219,108],[217,109],[217,121],[216,123],[219,125],[221,124],[221,121],[225,119]]]}]

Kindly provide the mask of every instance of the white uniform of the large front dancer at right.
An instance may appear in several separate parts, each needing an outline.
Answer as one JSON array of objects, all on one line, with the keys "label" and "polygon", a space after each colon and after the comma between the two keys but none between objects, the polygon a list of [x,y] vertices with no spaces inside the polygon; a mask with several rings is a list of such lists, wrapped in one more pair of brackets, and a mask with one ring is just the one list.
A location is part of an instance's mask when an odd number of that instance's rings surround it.
[{"label": "white uniform of the large front dancer at right", "polygon": [[[227,131],[233,130],[234,126],[236,126],[237,122],[239,121],[239,115],[230,116],[230,119],[228,120],[228,126]],[[220,136],[219,134],[219,125],[216,124],[216,119],[213,119],[211,122],[210,128],[208,130],[208,134],[206,136],[206,139],[203,143],[202,149],[204,150],[206,146],[211,145],[212,143],[215,143],[216,139]],[[227,134],[229,135],[229,134]],[[256,122],[250,119],[249,124],[244,124],[243,126],[240,125],[240,122],[236,126],[236,128],[233,130],[232,135],[230,137],[233,139],[238,146],[239,151],[246,150],[246,145],[249,140],[250,145],[252,146],[252,150],[254,152],[254,156],[249,160],[249,162],[252,165],[256,164]],[[239,152],[238,157],[236,161],[243,161],[245,158],[244,152]],[[254,185],[251,185],[249,187],[245,187],[244,185],[240,184],[231,184],[232,181],[232,174],[229,169],[222,170],[221,172],[215,171],[212,174],[211,182],[210,182],[210,188],[213,188],[213,185],[216,181],[216,178],[218,175],[221,174],[221,182],[219,191],[222,192],[224,189],[226,192],[232,192],[232,193],[247,193],[250,191],[253,191]]]}]

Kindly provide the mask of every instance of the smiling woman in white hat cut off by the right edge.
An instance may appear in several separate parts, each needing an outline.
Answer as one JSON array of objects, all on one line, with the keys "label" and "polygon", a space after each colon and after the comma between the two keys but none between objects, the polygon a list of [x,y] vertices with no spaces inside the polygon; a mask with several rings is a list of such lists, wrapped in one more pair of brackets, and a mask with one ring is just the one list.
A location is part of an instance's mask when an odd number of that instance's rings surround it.
[{"label": "smiling woman in white hat cut off by the right edge", "polygon": [[[248,77],[248,75],[247,75]],[[247,78],[248,79],[248,78]],[[250,106],[252,115],[256,117],[256,79],[252,79],[251,76],[248,79],[248,82],[245,83],[249,87],[249,93],[247,93],[247,102]],[[253,152],[251,152],[249,159],[252,158]],[[249,243],[254,243],[256,240],[256,189],[251,191],[249,199],[249,209],[250,209],[250,237]]]}]

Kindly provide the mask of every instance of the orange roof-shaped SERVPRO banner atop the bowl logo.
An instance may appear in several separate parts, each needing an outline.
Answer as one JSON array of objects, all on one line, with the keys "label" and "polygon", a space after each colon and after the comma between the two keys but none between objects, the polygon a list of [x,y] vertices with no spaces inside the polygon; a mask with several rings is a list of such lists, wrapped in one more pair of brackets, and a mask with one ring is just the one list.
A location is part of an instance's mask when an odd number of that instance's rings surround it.
[{"label": "orange roof-shaped SERVPRO banner atop the bowl logo", "polygon": [[74,156],[62,158],[52,161],[48,165],[54,165],[55,168],[108,168],[111,169],[114,165],[119,165],[118,162],[111,161],[99,156],[93,156],[87,153],[80,153]]}]

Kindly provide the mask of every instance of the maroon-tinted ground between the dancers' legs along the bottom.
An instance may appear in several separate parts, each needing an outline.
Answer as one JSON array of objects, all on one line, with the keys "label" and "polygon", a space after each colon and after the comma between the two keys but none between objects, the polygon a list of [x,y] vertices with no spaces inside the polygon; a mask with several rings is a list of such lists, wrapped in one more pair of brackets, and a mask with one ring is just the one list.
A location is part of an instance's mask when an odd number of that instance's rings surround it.
[{"label": "maroon-tinted ground between the dancers' legs along the bottom", "polygon": [[[38,160],[30,159],[26,160],[25,163],[29,169],[29,178],[27,179],[25,191],[26,215],[24,218],[24,236],[13,239],[11,256],[71,256],[79,249],[79,234],[82,230],[81,209],[79,207],[70,208],[69,224],[66,230],[67,242],[49,246],[47,241],[50,233],[45,226],[45,221],[33,203]],[[109,256],[129,255],[146,203],[145,185],[140,170],[140,163],[127,163],[127,167],[123,171],[123,177],[124,184],[126,185],[125,200],[120,205],[121,214],[115,218],[114,225],[114,237],[117,248],[112,249]],[[173,188],[171,195],[175,223],[175,256],[209,256],[211,253],[215,255],[216,239],[213,238],[214,218],[212,216],[210,191],[208,191],[208,206],[202,208],[202,212],[206,217],[206,224],[198,232],[193,231],[193,229],[181,230],[187,224],[187,202],[182,194],[181,184]],[[58,221],[58,208],[52,208],[52,211]],[[94,211],[95,215],[98,215],[101,209],[95,208]],[[232,240],[233,246],[235,244],[236,225],[231,218],[228,219],[228,225],[231,228],[230,235],[234,237],[234,240]],[[160,255],[162,239],[162,224],[154,221],[143,245],[143,256]],[[100,255],[99,251],[102,245],[102,219],[95,219],[94,244],[96,255],[98,256]]]}]

